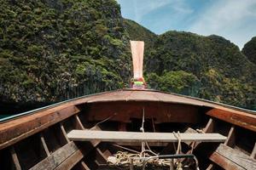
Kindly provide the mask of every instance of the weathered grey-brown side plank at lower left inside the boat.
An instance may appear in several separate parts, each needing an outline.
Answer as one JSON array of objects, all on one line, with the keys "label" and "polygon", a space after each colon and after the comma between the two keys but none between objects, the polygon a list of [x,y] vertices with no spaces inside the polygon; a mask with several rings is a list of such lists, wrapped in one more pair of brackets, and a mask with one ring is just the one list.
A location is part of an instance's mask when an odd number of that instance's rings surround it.
[{"label": "weathered grey-brown side plank at lower left inside the boat", "polygon": [[55,169],[69,156],[72,156],[78,149],[77,145],[70,142],[59,150],[55,150],[50,156],[46,157],[43,161],[40,161],[37,165],[31,168],[31,170],[45,170]]}]

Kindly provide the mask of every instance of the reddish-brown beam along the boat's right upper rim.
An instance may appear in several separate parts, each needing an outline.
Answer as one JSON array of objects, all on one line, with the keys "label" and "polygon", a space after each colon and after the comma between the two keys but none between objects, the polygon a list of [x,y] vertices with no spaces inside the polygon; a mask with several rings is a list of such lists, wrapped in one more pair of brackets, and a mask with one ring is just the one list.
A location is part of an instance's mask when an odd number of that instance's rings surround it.
[{"label": "reddish-brown beam along the boat's right upper rim", "polygon": [[220,109],[212,109],[207,111],[208,116],[216,117],[224,122],[230,122],[239,127],[244,127],[253,132],[256,132],[256,115],[250,113],[238,113],[231,111],[224,111]]}]

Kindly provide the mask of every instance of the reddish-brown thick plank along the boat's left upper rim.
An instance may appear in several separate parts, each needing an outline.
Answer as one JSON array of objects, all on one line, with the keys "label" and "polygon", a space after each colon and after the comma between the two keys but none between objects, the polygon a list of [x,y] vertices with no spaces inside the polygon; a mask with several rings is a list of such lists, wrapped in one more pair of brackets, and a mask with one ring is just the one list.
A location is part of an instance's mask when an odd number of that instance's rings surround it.
[{"label": "reddish-brown thick plank along the boat's left upper rim", "polygon": [[20,117],[14,121],[0,123],[0,150],[38,133],[56,122],[61,122],[79,111],[79,108],[74,105],[61,105],[30,116]]}]

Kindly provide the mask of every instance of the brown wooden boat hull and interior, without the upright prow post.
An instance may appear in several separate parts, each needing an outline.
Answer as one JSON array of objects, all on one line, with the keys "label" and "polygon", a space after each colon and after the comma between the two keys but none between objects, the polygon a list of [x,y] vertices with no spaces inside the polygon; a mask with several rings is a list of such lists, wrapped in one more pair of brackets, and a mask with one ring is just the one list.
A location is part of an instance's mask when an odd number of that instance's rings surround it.
[{"label": "brown wooden boat hull and interior, without the upright prow post", "polygon": [[120,89],[2,120],[0,169],[254,170],[255,142],[255,111]]}]

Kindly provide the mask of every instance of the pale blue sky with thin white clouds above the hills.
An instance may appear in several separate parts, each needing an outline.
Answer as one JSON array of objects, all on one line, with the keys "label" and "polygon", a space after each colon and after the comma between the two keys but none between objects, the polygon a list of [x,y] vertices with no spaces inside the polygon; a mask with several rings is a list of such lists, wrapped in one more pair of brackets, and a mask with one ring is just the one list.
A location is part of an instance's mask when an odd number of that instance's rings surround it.
[{"label": "pale blue sky with thin white clouds above the hills", "polygon": [[256,36],[256,0],[117,0],[124,18],[156,34],[190,31],[225,37],[239,48]]}]

